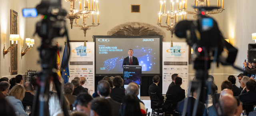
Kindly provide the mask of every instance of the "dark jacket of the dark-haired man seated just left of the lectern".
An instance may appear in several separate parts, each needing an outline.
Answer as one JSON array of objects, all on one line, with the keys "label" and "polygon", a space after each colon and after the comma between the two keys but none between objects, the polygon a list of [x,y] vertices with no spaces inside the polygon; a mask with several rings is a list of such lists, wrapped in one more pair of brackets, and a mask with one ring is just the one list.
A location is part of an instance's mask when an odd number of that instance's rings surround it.
[{"label": "dark jacket of the dark-haired man seated just left of the lectern", "polygon": [[125,89],[123,88],[112,88],[110,97],[115,100],[116,102],[122,103],[122,99],[125,96]]}]

